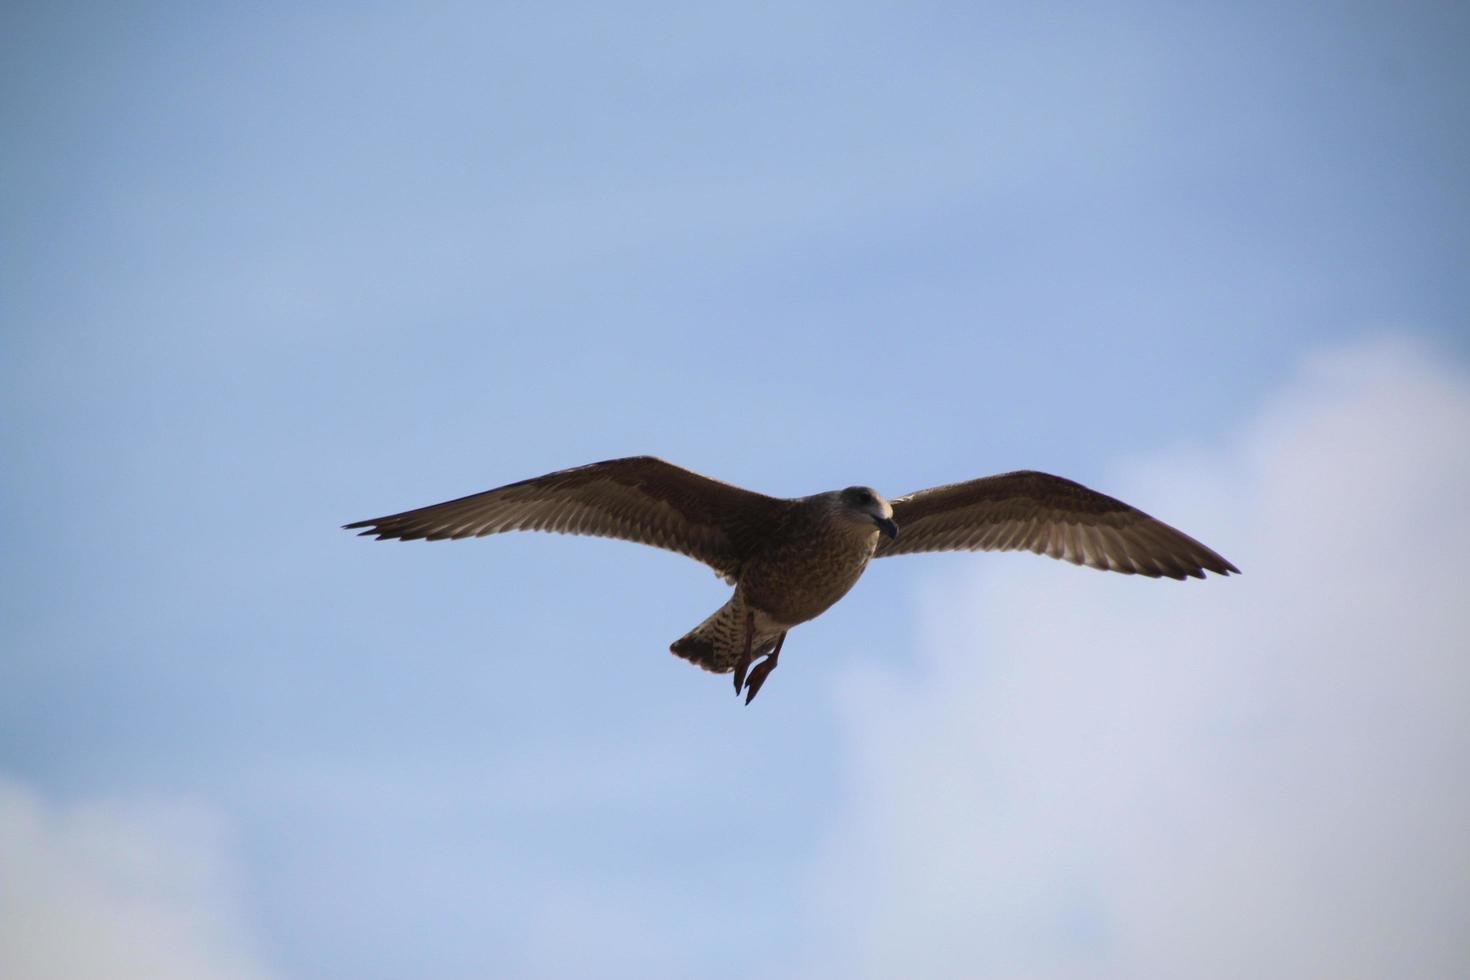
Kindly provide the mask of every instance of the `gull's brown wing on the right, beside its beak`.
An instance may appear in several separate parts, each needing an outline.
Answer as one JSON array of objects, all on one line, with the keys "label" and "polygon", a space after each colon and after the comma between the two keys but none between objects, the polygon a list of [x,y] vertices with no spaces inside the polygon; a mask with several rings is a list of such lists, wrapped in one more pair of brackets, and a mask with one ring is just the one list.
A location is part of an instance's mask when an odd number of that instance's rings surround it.
[{"label": "gull's brown wing on the right, beside its beak", "polygon": [[898,538],[878,557],[913,551],[1017,551],[1157,579],[1239,569],[1141,510],[1082,483],[1020,470],[891,501]]}]

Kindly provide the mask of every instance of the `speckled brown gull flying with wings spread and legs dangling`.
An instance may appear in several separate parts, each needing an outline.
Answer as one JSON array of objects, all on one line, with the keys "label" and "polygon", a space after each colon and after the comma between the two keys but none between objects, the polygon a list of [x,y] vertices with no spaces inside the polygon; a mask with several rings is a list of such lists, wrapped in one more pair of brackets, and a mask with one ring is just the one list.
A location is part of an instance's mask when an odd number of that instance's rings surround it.
[{"label": "speckled brown gull flying with wings spread and legs dangling", "polygon": [[360,533],[378,541],[553,530],[622,538],[703,561],[735,594],[669,649],[704,670],[734,673],[745,704],[776,669],[786,632],[847,595],[875,557],[1025,550],[1152,579],[1202,579],[1205,570],[1239,574],[1144,511],[1032,470],[891,501],[870,486],[782,498],[634,455],[344,527],[365,527]]}]

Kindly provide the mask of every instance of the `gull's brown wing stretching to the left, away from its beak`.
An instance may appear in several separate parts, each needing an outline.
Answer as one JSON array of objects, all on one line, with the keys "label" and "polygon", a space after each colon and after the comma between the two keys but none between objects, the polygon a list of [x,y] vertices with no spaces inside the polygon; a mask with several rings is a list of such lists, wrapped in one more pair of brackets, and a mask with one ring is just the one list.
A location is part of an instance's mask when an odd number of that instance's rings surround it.
[{"label": "gull's brown wing stretching to the left, away from its beak", "polygon": [[503,530],[622,538],[678,551],[734,579],[786,504],[653,455],[634,455],[344,527],[366,527],[362,533],[379,541],[478,538]]}]

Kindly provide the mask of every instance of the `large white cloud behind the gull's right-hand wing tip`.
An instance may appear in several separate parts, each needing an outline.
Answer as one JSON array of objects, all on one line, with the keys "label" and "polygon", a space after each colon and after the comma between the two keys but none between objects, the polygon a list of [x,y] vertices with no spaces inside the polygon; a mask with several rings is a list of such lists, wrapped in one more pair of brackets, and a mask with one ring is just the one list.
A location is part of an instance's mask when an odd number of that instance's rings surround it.
[{"label": "large white cloud behind the gull's right-hand wing tip", "polygon": [[1336,350],[1107,489],[1245,574],[932,589],[922,676],[844,695],[806,971],[1470,976],[1470,379]]}]

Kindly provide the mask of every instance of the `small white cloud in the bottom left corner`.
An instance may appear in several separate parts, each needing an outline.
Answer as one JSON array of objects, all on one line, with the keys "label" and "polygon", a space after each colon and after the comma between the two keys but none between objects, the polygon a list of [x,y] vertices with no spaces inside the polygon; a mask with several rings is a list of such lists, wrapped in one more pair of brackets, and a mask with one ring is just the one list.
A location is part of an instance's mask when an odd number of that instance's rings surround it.
[{"label": "small white cloud in the bottom left corner", "polygon": [[265,977],[226,851],[196,805],[60,808],[0,777],[0,977]]}]

